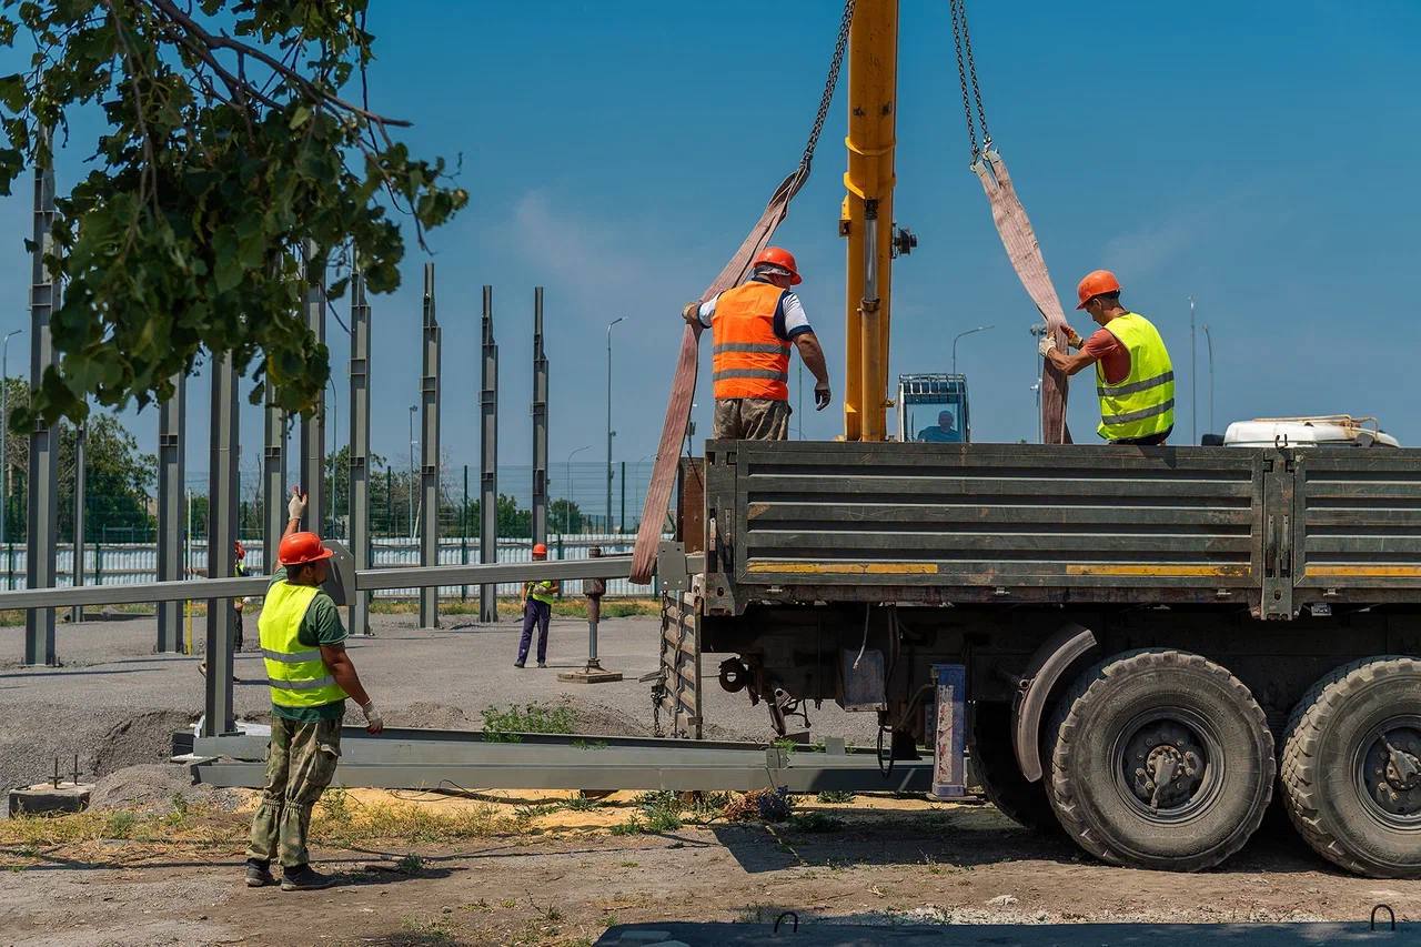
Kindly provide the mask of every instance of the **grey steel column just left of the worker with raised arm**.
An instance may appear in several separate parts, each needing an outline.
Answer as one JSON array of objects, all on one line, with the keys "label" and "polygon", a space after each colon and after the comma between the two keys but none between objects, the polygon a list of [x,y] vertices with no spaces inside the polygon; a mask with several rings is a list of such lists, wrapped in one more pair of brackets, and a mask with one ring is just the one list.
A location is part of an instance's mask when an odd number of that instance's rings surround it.
[{"label": "grey steel column just left of the worker with raised arm", "polygon": [[[237,371],[232,353],[212,358],[212,458],[207,472],[207,579],[233,577],[237,539]],[[207,695],[202,735],[236,729],[232,718],[230,599],[207,599]]]}]

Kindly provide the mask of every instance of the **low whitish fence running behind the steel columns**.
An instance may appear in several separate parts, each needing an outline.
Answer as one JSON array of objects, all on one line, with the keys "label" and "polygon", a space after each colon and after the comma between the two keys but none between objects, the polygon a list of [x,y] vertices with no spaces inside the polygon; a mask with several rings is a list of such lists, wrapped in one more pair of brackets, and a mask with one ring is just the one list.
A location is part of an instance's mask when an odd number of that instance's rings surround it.
[{"label": "low whitish fence running behind the steel columns", "polygon": [[[253,574],[266,573],[263,562],[263,547],[260,536],[243,537],[247,549],[244,565]],[[637,542],[635,533],[551,533],[547,540],[549,559],[587,559],[593,546],[600,546],[603,555],[622,556],[631,553]],[[375,569],[392,566],[418,566],[419,540],[408,537],[375,539],[371,543],[371,566]],[[0,549],[0,582],[6,590],[24,589],[24,546],[9,543]],[[58,546],[58,582],[61,587],[68,587],[74,576],[74,546]],[[499,562],[531,562],[533,542],[530,539],[500,539]],[[207,543],[193,540],[185,552],[186,569],[190,576],[202,576],[207,572]],[[439,565],[450,566],[479,562],[479,537],[458,536],[441,537]],[[136,584],[158,580],[158,546],[156,543],[85,543],[84,545],[84,583],[91,586]],[[500,596],[519,594],[520,586],[500,584]],[[576,593],[576,589],[568,589]],[[649,586],[634,586],[627,579],[612,579],[607,583],[608,597],[637,597],[652,594]],[[418,589],[382,589],[374,593],[378,599],[414,599]],[[439,597],[458,600],[479,594],[477,586],[443,586]]]}]

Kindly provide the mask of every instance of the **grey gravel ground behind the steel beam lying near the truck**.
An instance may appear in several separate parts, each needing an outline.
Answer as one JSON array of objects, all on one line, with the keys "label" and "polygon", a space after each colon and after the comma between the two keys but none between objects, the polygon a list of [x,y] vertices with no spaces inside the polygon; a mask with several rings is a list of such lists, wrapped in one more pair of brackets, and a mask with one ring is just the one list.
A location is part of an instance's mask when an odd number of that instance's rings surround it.
[{"label": "grey gravel ground behind the steel beam lying near the truck", "polygon": [[[398,727],[477,729],[486,707],[568,700],[578,729],[594,734],[648,734],[652,728],[651,685],[637,678],[657,670],[659,621],[651,617],[608,619],[601,624],[603,665],[621,671],[612,684],[578,685],[557,680],[560,670],[581,667],[587,623],[554,619],[550,667],[513,667],[520,626],[502,621],[477,626],[450,616],[448,627],[426,631],[415,616],[372,616],[375,637],[352,638],[351,657],[361,680]],[[254,616],[247,619],[247,647],[254,646]],[[124,766],[165,759],[171,734],[202,711],[200,656],[153,654],[152,619],[88,621],[58,627],[64,667],[21,667],[24,628],[0,628],[0,785],[17,786],[53,775],[54,759],[71,774],[80,756],[81,776],[104,776]],[[195,621],[200,650],[202,620]],[[705,656],[713,678],[720,656]],[[237,715],[264,719],[270,708],[259,654],[236,661],[233,688]],[[763,707],[745,694],[705,691],[709,737],[769,739]],[[351,711],[354,712],[354,711]],[[843,735],[851,742],[874,738],[871,714],[845,714],[831,704],[810,711],[811,735]]]}]

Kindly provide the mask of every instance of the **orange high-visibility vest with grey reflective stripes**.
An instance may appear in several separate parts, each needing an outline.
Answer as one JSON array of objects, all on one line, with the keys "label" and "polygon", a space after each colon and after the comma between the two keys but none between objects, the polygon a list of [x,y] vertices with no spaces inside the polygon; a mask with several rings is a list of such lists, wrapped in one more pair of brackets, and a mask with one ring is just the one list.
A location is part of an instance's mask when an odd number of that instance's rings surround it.
[{"label": "orange high-visibility vest with grey reflective stripes", "polygon": [[756,282],[720,293],[710,320],[716,398],[790,400],[790,344],[774,334],[782,296]]}]

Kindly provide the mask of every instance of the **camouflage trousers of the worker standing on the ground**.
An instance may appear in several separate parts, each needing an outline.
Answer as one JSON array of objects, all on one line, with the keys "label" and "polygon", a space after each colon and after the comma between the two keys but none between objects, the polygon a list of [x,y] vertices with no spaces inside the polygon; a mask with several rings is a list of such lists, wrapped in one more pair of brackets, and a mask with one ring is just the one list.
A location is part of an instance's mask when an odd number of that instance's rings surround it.
[{"label": "camouflage trousers of the worker standing on the ground", "polygon": [[310,862],[306,833],[311,828],[311,809],[331,785],[340,758],[341,721],[303,724],[271,715],[267,785],[252,818],[249,859],[270,862],[280,856],[284,869]]}]

